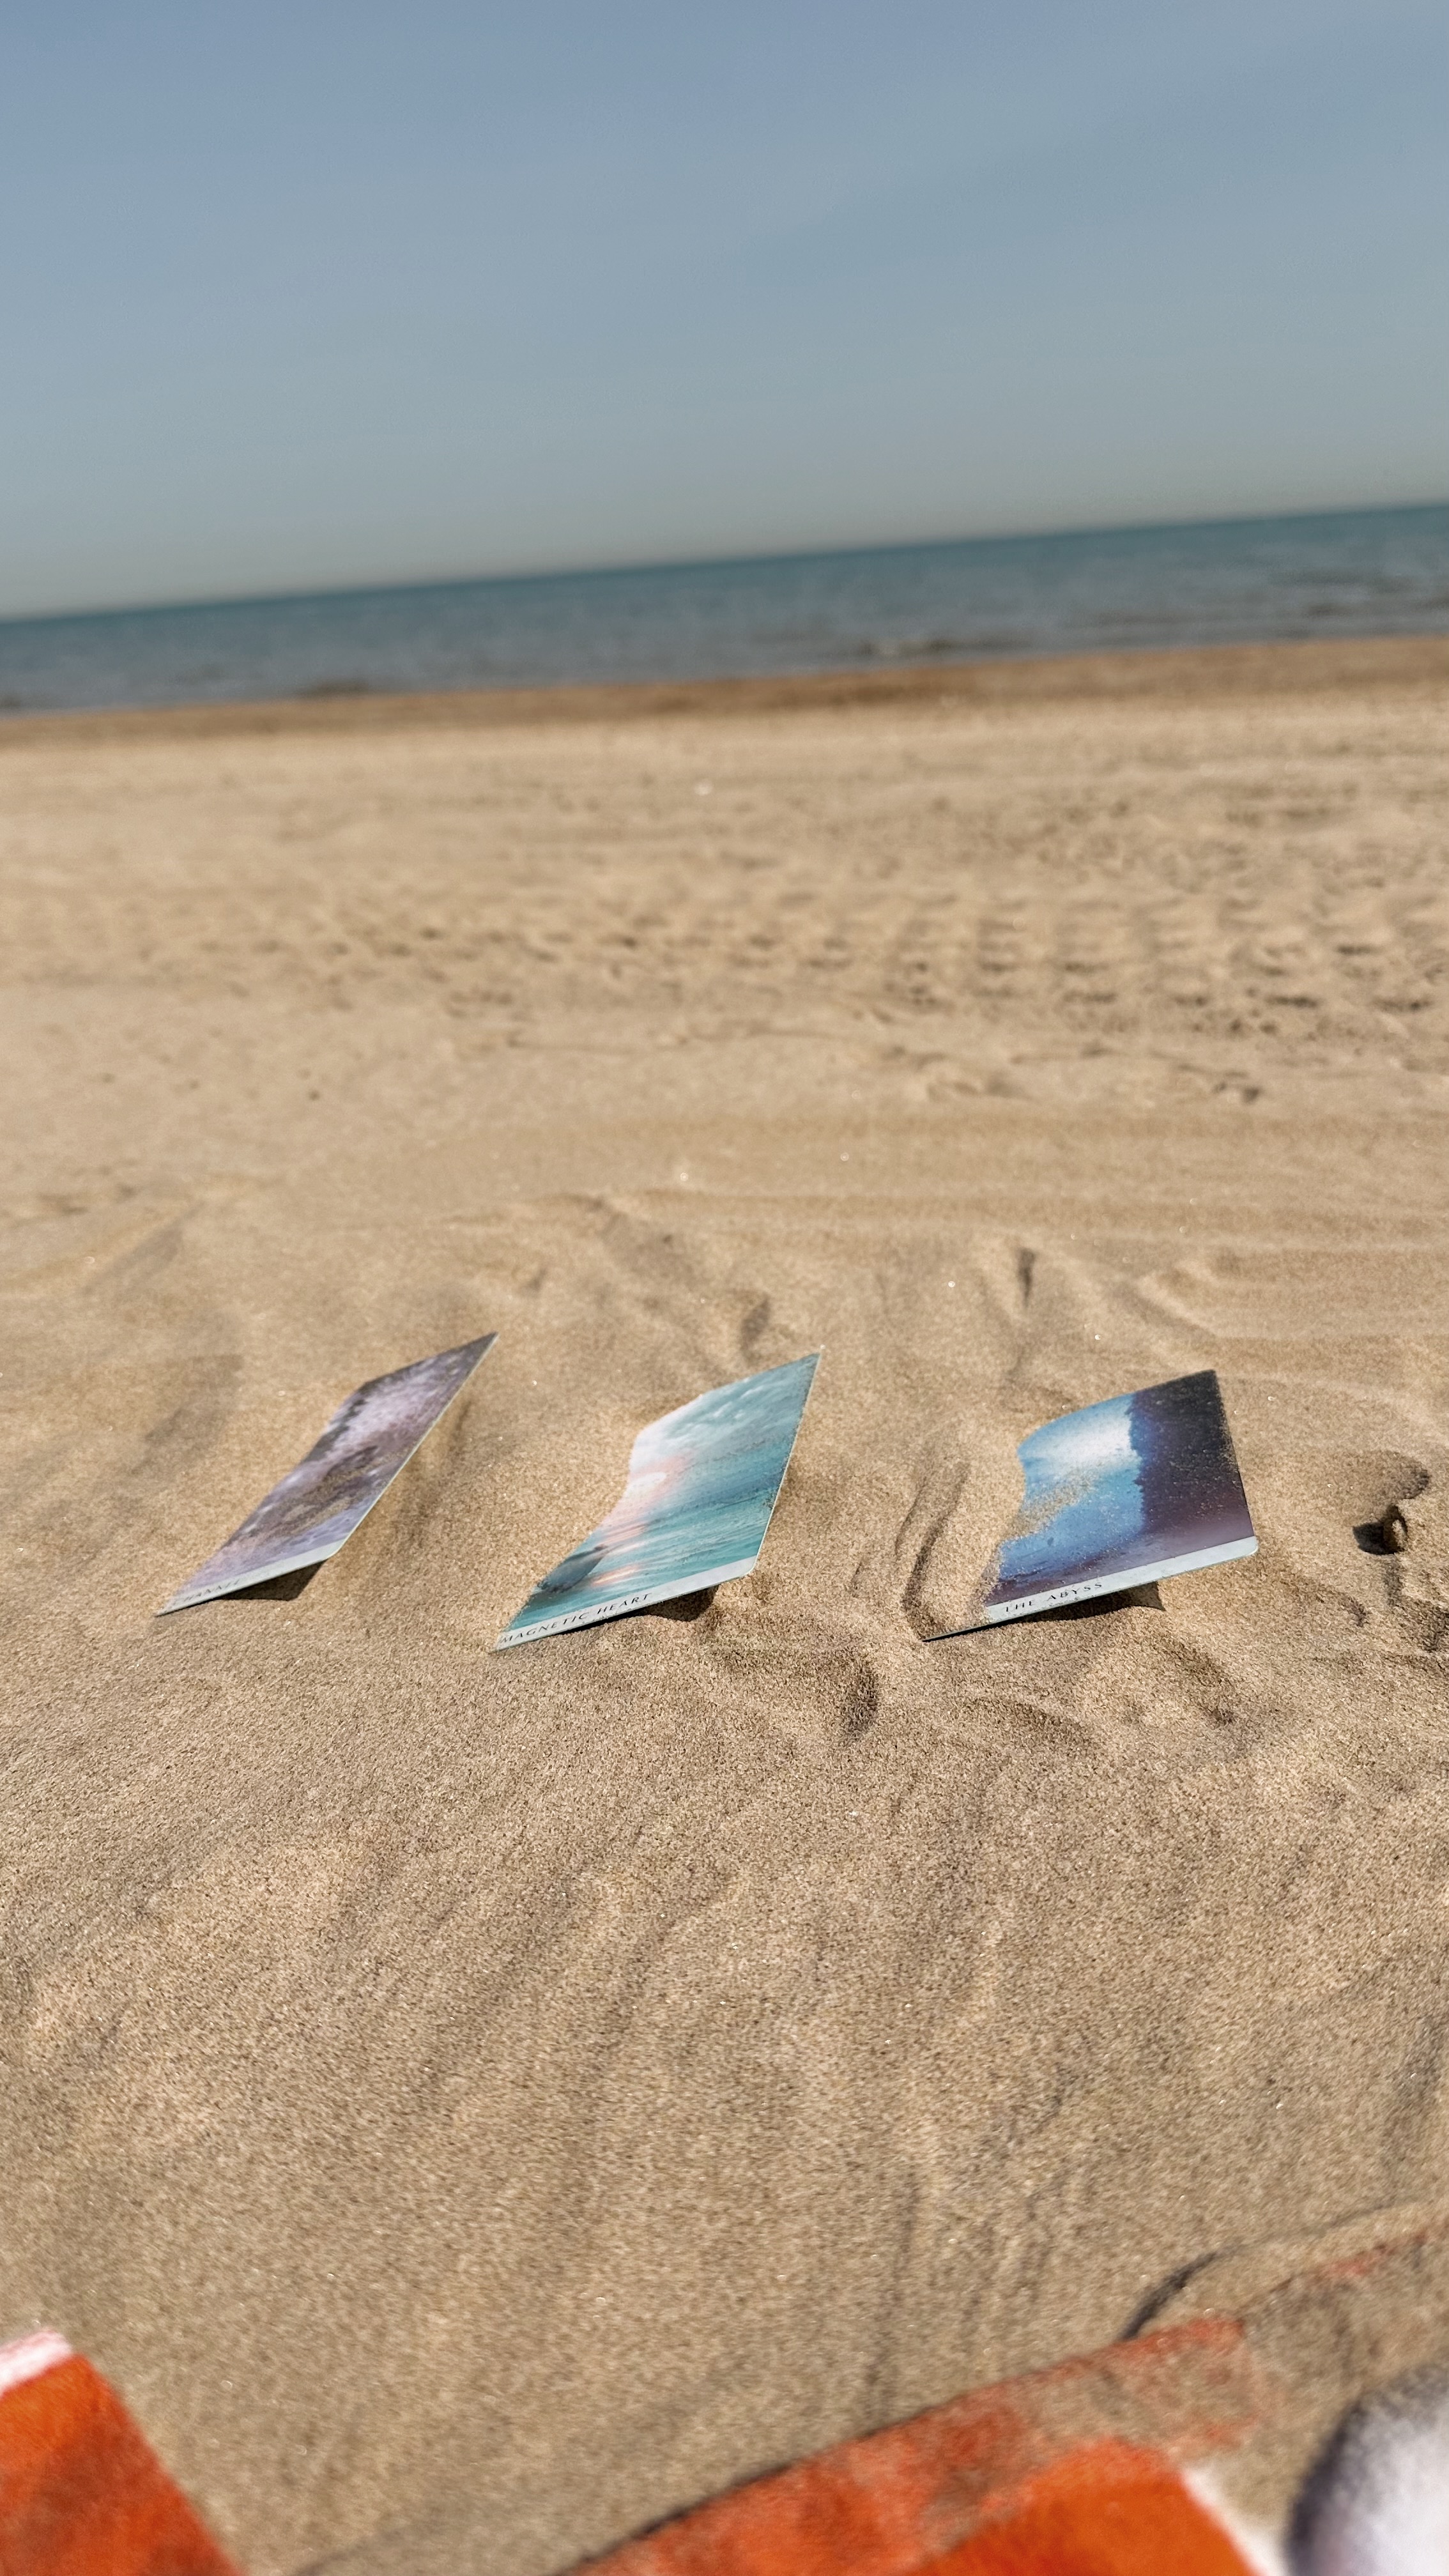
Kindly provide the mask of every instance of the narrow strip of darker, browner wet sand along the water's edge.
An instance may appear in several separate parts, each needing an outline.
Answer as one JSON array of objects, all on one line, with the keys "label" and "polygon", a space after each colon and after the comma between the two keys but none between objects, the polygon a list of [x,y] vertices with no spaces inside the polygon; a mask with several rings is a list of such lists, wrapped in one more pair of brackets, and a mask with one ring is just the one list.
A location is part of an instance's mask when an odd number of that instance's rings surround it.
[{"label": "narrow strip of darker, browner wet sand along the water's edge", "polygon": [[263,734],[374,734],[503,729],[518,724],[632,724],[660,716],[768,716],[812,708],[938,708],[949,701],[1194,698],[1325,688],[1449,683],[1449,636],[1359,636],[1292,644],[1168,644],[1018,659],[933,662],[902,670],[825,670],[737,680],[557,683],[547,688],[338,690],[178,706],[59,708],[0,716],[0,747],[54,739],[235,739]]}]

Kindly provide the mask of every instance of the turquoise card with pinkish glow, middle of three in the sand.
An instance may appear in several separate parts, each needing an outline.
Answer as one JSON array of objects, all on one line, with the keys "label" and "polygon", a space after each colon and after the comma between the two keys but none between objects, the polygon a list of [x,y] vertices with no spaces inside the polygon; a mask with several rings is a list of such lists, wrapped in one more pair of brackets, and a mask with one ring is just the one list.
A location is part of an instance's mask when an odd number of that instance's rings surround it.
[{"label": "turquoise card with pinkish glow, middle of three in the sand", "polygon": [[714,1386],[650,1422],[606,1520],[534,1584],[498,1646],[590,1628],[750,1574],[820,1352]]}]

